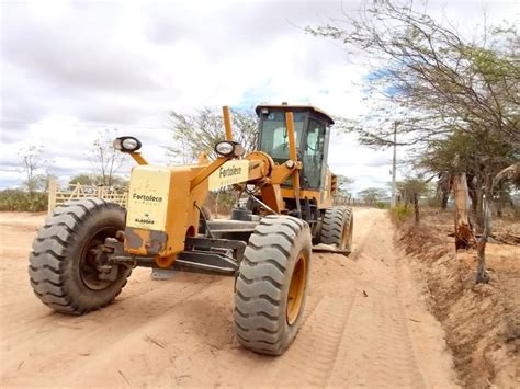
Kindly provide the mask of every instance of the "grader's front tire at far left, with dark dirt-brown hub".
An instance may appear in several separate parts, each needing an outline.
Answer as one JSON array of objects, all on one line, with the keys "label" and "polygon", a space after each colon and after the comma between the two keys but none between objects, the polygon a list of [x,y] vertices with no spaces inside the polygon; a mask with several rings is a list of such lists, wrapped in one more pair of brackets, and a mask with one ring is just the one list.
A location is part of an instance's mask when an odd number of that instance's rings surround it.
[{"label": "grader's front tire at far left, with dark dirt-brown hub", "polygon": [[42,302],[69,314],[83,314],[112,302],[132,271],[117,266],[114,281],[103,279],[91,249],[124,228],[125,210],[101,198],[57,208],[39,229],[30,255],[31,286]]}]

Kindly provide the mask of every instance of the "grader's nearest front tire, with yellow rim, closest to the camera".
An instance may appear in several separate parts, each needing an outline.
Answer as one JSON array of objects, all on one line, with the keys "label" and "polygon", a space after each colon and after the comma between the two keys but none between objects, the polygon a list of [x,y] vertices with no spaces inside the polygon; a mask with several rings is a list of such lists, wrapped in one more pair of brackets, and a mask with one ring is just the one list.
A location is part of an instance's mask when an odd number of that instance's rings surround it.
[{"label": "grader's nearest front tire, with yellow rim, closest to the camera", "polygon": [[262,218],[249,238],[235,290],[235,333],[256,353],[281,355],[302,323],[310,266],[308,225]]}]

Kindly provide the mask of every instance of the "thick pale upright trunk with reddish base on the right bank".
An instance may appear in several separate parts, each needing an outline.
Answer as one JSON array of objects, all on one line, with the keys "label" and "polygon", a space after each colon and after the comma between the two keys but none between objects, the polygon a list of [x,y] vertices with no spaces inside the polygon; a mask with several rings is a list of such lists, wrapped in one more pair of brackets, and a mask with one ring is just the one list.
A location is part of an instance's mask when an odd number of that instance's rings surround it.
[{"label": "thick pale upright trunk with reddish base on the right bank", "polygon": [[475,237],[470,226],[466,173],[456,174],[453,179],[455,198],[455,250],[475,247]]}]

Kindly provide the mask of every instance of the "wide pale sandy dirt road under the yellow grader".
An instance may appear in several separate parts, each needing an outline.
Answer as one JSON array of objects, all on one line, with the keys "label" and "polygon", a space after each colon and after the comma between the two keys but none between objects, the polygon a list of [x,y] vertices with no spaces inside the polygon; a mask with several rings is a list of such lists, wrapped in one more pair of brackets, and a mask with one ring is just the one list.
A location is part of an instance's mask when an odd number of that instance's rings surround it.
[{"label": "wide pale sandy dirt road under the yellow grader", "polygon": [[439,323],[393,247],[386,213],[354,210],[354,252],[313,258],[304,324],[281,357],[244,351],[233,279],[136,270],[115,304],[53,313],[32,294],[42,217],[0,214],[0,387],[454,387]]}]

